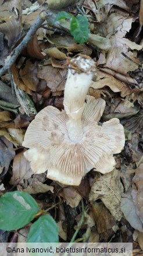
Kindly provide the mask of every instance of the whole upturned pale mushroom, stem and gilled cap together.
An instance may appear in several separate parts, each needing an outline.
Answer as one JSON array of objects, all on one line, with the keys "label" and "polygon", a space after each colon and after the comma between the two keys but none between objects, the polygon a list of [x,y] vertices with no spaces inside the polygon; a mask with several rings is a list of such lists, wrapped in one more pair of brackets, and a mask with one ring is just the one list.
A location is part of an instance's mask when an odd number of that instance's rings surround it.
[{"label": "whole upturned pale mushroom, stem and gilled cap together", "polygon": [[113,154],[124,147],[124,129],[117,118],[98,125],[105,101],[87,95],[94,74],[90,57],[70,60],[65,110],[47,106],[28,126],[23,146],[29,149],[24,155],[35,174],[48,171],[52,180],[79,185],[92,168],[102,174],[114,168]]}]

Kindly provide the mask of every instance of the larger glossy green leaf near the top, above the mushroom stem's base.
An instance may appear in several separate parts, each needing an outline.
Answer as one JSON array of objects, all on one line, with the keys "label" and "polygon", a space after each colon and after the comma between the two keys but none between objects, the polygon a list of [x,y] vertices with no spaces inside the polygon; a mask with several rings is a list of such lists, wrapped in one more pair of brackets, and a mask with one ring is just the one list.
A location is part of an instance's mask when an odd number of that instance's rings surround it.
[{"label": "larger glossy green leaf near the top, above the mushroom stem's base", "polygon": [[90,29],[88,29],[90,23],[85,16],[78,14],[76,18],[72,16],[70,23],[70,33],[74,37],[77,43],[85,43],[89,37]]}]

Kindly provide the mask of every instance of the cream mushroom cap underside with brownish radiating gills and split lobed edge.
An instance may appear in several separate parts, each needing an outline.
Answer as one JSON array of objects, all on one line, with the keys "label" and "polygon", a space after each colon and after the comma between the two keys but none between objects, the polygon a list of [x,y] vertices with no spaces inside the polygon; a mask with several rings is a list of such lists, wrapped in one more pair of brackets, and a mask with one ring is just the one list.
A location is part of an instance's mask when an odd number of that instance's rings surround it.
[{"label": "cream mushroom cap underside with brownish radiating gills and split lobed edge", "polygon": [[105,101],[87,95],[81,118],[83,138],[69,139],[65,110],[53,106],[42,109],[28,126],[23,146],[30,148],[24,155],[34,173],[48,170],[47,177],[62,184],[79,185],[83,176],[95,168],[105,174],[115,165],[113,154],[124,147],[124,130],[119,119],[113,118],[98,126]]}]

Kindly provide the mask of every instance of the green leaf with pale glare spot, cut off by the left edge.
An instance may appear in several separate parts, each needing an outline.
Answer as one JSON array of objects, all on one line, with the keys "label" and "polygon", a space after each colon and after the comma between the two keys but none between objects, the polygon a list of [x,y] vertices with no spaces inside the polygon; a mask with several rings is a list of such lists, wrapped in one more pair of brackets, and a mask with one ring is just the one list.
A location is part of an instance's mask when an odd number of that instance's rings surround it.
[{"label": "green leaf with pale glare spot, cut off by the left edge", "polygon": [[0,229],[20,229],[34,219],[38,210],[37,203],[28,193],[5,193],[0,198]]}]

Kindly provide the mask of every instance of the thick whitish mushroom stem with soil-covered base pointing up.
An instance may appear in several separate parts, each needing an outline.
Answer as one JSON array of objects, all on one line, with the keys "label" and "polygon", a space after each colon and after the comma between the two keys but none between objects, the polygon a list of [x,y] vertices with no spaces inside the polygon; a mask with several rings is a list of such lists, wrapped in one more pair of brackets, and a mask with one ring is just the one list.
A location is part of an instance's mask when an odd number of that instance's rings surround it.
[{"label": "thick whitish mushroom stem with soil-covered base pointing up", "polygon": [[94,73],[95,63],[91,58],[78,56],[70,61],[63,105],[69,117],[66,122],[69,138],[74,142],[83,138],[81,116]]}]

